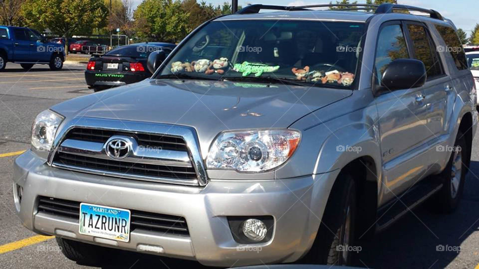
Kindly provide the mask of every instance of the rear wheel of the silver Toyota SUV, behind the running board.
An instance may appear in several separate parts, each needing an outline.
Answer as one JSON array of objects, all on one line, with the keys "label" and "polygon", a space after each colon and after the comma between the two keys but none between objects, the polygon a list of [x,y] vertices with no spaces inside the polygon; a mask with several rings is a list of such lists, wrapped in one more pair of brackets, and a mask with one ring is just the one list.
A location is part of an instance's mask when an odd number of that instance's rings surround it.
[{"label": "rear wheel of the silver Toyota SUV, behind the running board", "polygon": [[444,171],[435,176],[443,182],[441,190],[428,201],[429,207],[435,212],[454,212],[463,196],[467,170],[464,163],[468,160],[468,148],[466,137],[461,131],[458,132],[453,150]]}]

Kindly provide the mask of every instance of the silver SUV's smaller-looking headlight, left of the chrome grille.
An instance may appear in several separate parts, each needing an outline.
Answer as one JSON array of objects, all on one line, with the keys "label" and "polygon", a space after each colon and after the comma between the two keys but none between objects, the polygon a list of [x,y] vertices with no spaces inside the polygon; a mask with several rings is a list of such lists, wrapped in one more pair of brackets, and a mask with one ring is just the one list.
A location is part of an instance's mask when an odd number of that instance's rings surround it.
[{"label": "silver SUV's smaller-looking headlight, left of the chrome grille", "polygon": [[63,119],[50,110],[38,114],[31,127],[31,145],[39,151],[50,151],[56,130]]}]

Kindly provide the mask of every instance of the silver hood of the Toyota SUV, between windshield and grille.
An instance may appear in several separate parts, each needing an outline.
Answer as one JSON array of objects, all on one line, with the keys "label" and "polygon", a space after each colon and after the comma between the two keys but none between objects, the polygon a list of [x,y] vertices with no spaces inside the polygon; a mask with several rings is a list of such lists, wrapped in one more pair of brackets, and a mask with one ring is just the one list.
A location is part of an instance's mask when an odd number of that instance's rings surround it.
[{"label": "silver hood of the Toyota SUV, between windshield and grille", "polygon": [[191,126],[200,141],[211,141],[225,130],[287,128],[351,94],[350,90],[282,84],[146,79],[71,99],[52,109],[67,120],[78,116]]}]

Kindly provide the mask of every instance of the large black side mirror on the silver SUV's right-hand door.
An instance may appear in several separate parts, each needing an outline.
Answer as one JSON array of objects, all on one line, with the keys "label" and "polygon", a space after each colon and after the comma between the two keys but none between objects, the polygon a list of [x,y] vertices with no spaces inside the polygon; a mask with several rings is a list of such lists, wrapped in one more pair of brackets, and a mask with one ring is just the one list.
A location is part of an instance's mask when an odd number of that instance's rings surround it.
[{"label": "large black side mirror on the silver SUV's right-hand door", "polygon": [[423,86],[426,79],[426,66],[422,61],[397,59],[384,70],[381,86],[390,91],[411,89]]}]

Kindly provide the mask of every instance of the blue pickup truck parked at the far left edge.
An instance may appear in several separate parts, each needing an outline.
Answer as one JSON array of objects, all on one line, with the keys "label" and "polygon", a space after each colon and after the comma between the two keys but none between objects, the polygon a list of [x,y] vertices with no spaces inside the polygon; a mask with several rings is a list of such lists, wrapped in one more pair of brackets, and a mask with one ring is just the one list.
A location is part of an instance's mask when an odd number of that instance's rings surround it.
[{"label": "blue pickup truck parked at the far left edge", "polygon": [[48,42],[33,29],[0,25],[0,71],[7,62],[19,63],[26,70],[34,64],[48,64],[51,70],[60,70],[64,60],[63,45]]}]

